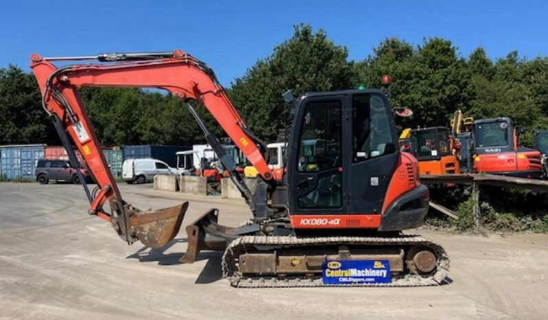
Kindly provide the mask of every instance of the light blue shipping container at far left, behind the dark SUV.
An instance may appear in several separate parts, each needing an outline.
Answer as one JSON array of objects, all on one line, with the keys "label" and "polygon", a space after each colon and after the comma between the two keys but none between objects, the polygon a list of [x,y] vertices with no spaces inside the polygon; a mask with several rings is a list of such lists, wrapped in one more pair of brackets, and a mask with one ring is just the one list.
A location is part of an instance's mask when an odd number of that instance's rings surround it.
[{"label": "light blue shipping container at far left, behind the dark SUV", "polygon": [[44,158],[45,144],[0,146],[0,174],[6,179],[34,179],[38,159]]}]

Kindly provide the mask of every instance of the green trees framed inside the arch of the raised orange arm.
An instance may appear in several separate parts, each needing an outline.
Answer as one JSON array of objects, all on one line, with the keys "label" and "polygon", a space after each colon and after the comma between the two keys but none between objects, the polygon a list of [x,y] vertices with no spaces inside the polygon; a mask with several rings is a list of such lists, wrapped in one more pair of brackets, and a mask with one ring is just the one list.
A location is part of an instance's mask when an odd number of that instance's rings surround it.
[{"label": "green trees framed inside the arch of the raised orange arm", "polygon": [[[187,106],[169,93],[126,88],[84,88],[82,100],[104,146],[128,144],[192,145],[204,143]],[[212,118],[194,103],[209,123]]]}]

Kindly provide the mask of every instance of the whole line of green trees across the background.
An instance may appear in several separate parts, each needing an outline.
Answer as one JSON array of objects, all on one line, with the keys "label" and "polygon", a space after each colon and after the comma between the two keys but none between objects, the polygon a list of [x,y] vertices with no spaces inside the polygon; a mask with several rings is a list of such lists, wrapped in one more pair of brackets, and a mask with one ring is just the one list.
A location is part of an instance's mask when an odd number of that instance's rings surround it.
[{"label": "whole line of green trees across the background", "polygon": [[[258,60],[227,88],[234,105],[253,132],[273,142],[288,124],[282,93],[296,97],[312,91],[380,87],[390,74],[394,106],[407,106],[413,117],[400,126],[447,126],[453,113],[510,117],[528,130],[548,128],[548,58],[521,58],[510,52],[492,60],[478,47],[461,56],[448,39],[426,38],[411,45],[386,38],[363,60],[349,60],[348,49],[334,43],[324,30],[297,25],[291,38]],[[199,58],[199,57],[198,57]],[[146,89],[84,88],[82,100],[104,146],[129,144],[192,145],[203,135],[186,106],[170,94]],[[208,127],[225,136],[203,106],[196,104]],[[0,69],[0,145],[59,144],[41,106],[32,73],[10,65]]]}]

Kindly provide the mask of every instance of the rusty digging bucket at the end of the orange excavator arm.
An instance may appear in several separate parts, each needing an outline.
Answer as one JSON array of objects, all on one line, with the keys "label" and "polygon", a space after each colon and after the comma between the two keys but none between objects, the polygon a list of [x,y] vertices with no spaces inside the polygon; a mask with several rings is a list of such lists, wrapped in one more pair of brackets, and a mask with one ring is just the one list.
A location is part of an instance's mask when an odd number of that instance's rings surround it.
[{"label": "rusty digging bucket at the end of the orange excavator arm", "polygon": [[130,216],[130,231],[147,247],[157,249],[168,244],[181,228],[187,212],[188,202],[175,207],[141,212],[135,210]]}]

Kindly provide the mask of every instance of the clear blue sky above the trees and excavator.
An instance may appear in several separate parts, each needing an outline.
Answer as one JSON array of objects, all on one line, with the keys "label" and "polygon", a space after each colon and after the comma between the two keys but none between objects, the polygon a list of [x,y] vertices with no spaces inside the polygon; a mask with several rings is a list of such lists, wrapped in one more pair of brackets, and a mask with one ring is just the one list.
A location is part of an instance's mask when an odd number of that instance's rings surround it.
[{"label": "clear blue sky above the trees and excavator", "polygon": [[518,50],[548,55],[548,1],[3,1],[0,67],[28,70],[30,54],[171,51],[200,58],[225,86],[310,23],[350,51],[371,54],[387,36],[414,45],[440,36],[468,56]]}]

